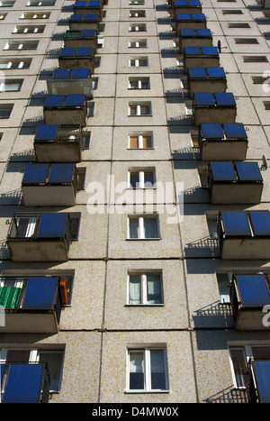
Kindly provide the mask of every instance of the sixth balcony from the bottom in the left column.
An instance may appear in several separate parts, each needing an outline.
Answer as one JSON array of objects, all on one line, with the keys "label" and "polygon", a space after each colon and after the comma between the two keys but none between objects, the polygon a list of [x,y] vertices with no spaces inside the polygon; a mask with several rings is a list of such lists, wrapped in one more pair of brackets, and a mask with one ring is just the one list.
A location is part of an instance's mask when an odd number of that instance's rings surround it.
[{"label": "sixth balcony from the bottom in the left column", "polygon": [[43,107],[46,124],[80,124],[85,127],[85,95],[48,95]]}]

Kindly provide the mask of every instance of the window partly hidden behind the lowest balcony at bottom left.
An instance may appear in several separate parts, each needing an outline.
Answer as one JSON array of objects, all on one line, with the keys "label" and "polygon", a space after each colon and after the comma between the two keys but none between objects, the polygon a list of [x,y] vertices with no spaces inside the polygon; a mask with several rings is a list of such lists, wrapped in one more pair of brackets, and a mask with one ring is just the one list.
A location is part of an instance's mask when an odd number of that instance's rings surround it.
[{"label": "window partly hidden behind the lowest balcony at bottom left", "polygon": [[47,362],[50,377],[50,393],[58,393],[61,389],[64,350],[2,348],[0,362]]}]

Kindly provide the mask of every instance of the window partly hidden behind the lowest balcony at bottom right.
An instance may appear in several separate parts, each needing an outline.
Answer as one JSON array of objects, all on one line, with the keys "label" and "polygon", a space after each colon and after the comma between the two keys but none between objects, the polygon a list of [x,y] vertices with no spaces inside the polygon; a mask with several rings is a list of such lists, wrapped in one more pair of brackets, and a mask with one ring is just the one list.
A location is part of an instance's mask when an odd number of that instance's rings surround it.
[{"label": "window partly hidden behind the lowest balcony at bottom right", "polygon": [[270,346],[267,345],[246,345],[231,346],[229,348],[230,363],[234,379],[234,385],[237,388],[245,387],[245,375],[247,372],[247,360],[251,357],[254,361],[269,361]]}]

